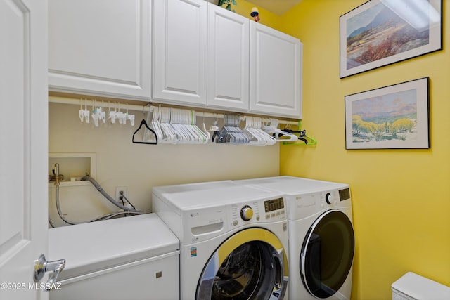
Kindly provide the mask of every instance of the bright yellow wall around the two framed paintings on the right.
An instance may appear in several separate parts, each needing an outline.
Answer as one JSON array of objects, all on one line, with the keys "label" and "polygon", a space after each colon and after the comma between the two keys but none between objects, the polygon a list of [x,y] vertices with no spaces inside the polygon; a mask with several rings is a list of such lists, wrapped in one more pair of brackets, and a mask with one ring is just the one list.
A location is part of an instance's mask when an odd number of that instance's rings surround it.
[{"label": "bright yellow wall around the two framed paintings on the right", "polygon": [[[303,0],[283,15],[303,42],[303,128],[318,143],[281,146],[280,173],[351,185],[352,299],[378,300],[407,271],[450,286],[450,5],[444,50],[339,79],[339,18],[364,2]],[[345,95],[420,77],[430,77],[430,150],[345,150]]]}]

